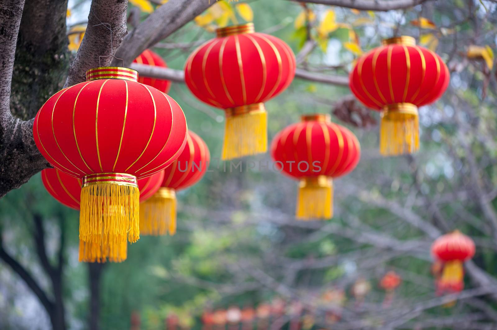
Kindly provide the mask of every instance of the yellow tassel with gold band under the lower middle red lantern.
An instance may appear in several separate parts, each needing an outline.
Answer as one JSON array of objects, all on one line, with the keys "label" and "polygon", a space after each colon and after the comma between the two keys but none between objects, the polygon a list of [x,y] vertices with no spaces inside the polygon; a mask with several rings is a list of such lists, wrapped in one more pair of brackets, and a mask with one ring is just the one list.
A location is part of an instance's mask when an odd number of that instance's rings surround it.
[{"label": "yellow tassel with gold band under the lower middle red lantern", "polygon": [[333,217],[333,184],[324,175],[300,181],[297,196],[297,219],[331,219]]}]

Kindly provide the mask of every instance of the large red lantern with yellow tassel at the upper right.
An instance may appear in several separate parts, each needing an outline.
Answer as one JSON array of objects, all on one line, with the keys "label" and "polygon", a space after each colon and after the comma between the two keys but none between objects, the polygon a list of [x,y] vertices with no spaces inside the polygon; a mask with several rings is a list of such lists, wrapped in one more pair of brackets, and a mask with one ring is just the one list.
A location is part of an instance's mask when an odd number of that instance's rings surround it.
[{"label": "large red lantern with yellow tassel at the upper right", "polygon": [[380,153],[411,154],[419,149],[417,108],[447,89],[450,74],[440,56],[402,36],[361,56],[350,72],[350,90],[366,107],[382,111]]}]

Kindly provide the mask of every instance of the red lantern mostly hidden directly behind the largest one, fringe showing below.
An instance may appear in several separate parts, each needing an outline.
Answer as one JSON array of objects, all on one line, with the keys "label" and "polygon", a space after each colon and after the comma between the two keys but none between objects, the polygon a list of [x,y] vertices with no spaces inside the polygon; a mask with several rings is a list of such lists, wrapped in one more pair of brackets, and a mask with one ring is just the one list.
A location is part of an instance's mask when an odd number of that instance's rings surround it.
[{"label": "red lantern mostly hidden directly behind the largest one, fringe showing below", "polygon": [[[164,179],[164,171],[138,180],[140,190],[140,202],[147,200],[161,186]],[[41,171],[41,180],[45,189],[59,203],[75,210],[80,210],[81,185],[83,181],[59,171],[48,168]],[[102,240],[103,241],[103,240]],[[127,258],[127,242],[83,242],[80,240],[80,262],[121,262]]]}]

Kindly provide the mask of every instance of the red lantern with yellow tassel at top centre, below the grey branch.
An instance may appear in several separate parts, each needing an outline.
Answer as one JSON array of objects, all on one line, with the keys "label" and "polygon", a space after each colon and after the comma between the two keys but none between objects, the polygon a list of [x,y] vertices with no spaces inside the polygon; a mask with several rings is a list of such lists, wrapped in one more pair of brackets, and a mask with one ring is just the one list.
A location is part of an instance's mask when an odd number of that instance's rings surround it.
[{"label": "red lantern with yellow tassel at top centre, below the grey branch", "polygon": [[264,153],[264,102],[285,90],[295,75],[295,55],[282,40],[254,32],[253,23],[217,30],[185,64],[185,82],[201,101],[226,112],[224,160]]}]

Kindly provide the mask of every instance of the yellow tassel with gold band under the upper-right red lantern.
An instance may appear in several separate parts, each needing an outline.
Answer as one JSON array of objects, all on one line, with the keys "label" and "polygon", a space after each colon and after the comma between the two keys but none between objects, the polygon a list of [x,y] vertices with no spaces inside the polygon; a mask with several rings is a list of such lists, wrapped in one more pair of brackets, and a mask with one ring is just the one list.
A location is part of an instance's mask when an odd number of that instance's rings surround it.
[{"label": "yellow tassel with gold band under the upper-right red lantern", "polygon": [[387,106],[381,116],[380,153],[383,156],[412,154],[419,150],[417,108],[408,103]]}]

